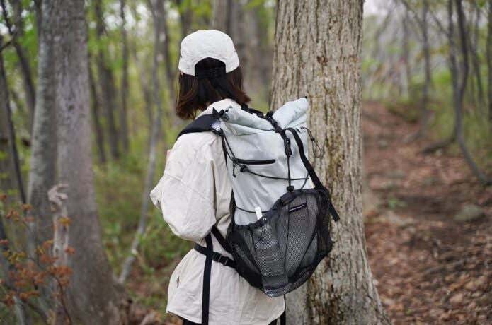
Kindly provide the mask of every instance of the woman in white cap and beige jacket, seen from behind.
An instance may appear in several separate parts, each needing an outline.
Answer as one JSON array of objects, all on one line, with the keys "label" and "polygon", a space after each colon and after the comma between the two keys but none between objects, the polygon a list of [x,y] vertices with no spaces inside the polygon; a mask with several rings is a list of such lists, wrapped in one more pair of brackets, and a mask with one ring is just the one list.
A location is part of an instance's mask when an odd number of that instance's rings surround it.
[{"label": "woman in white cap and beige jacket, seen from behind", "polygon": [[[231,38],[217,30],[193,32],[181,42],[176,114],[193,119],[249,102],[242,87],[239,58]],[[199,113],[197,115],[197,113]],[[151,199],[174,234],[205,246],[216,226],[225,237],[231,218],[231,184],[219,136],[212,132],[180,136],[168,151],[166,168]],[[212,236],[215,252],[232,258]],[[166,311],[183,324],[202,322],[205,255],[192,249],[171,276]],[[212,262],[208,323],[275,324],[285,309],[283,297],[270,298],[228,266]]]}]

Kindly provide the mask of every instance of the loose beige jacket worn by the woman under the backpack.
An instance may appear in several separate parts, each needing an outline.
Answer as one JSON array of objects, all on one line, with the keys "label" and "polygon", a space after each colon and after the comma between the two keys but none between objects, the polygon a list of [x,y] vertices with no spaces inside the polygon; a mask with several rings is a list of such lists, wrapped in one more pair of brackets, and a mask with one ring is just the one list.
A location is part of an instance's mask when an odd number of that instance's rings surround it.
[{"label": "loose beige jacket worn by the woman under the backpack", "polygon": [[[229,99],[214,102],[200,115],[230,105],[238,104]],[[225,237],[231,222],[231,184],[220,138],[212,132],[180,136],[168,151],[164,175],[150,196],[177,236],[205,246],[204,237],[216,224]],[[215,252],[232,257],[213,235],[212,241]],[[205,256],[194,249],[185,255],[169,282],[167,312],[200,323],[204,266]],[[233,268],[212,262],[210,325],[267,325],[284,307],[283,297],[270,298]]]}]

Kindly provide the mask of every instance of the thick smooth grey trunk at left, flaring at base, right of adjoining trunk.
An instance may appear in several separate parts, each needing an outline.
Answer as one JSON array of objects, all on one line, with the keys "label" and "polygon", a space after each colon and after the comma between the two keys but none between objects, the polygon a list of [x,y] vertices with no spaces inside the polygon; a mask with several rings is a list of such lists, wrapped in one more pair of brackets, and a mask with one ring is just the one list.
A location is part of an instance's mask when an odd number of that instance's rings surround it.
[{"label": "thick smooth grey trunk at left, flaring at base, right of adjoining trunk", "polygon": [[67,185],[69,246],[75,249],[69,261],[69,314],[75,324],[122,324],[125,296],[105,256],[93,187],[84,0],[52,3],[58,183]]}]

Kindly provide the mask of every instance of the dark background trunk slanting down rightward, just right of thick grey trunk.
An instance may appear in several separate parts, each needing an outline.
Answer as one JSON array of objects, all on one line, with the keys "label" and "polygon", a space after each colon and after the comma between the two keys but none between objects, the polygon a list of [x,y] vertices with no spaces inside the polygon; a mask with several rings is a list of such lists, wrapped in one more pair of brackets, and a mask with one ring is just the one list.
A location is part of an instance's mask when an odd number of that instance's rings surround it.
[{"label": "dark background trunk slanting down rightward, just right of thick grey trunk", "polygon": [[110,153],[114,159],[120,157],[118,148],[118,129],[115,121],[115,81],[113,71],[107,64],[105,49],[102,48],[101,39],[105,34],[105,23],[103,17],[102,0],[93,1],[94,14],[96,16],[96,37],[98,40],[98,53],[96,63],[98,66],[99,83],[101,86],[101,102],[103,104],[106,123],[108,124],[108,138]]}]

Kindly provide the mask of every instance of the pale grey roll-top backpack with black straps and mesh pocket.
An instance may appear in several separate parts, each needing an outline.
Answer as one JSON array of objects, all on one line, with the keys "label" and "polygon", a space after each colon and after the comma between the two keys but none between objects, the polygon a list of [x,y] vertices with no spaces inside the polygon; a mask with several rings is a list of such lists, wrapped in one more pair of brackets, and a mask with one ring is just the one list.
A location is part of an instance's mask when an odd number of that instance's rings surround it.
[{"label": "pale grey roll-top backpack with black straps and mesh pocket", "polygon": [[207,247],[195,245],[207,256],[202,324],[208,322],[212,261],[277,297],[299,288],[331,251],[330,215],[336,221],[338,213],[307,159],[308,138],[315,141],[306,125],[308,109],[307,98],[267,114],[231,106],[198,117],[180,133],[212,131],[222,138],[233,189],[227,237],[215,227],[212,234],[234,261],[213,251],[210,234]]}]

